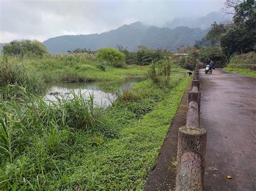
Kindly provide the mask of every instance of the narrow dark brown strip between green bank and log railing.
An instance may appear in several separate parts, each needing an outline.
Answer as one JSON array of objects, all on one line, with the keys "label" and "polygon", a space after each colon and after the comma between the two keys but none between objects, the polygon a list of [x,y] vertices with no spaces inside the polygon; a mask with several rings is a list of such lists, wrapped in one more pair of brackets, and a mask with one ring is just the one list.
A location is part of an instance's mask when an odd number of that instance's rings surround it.
[{"label": "narrow dark brown strip between green bank and log railing", "polygon": [[191,82],[180,102],[178,111],[173,118],[164,144],[159,151],[152,172],[147,178],[144,190],[173,190],[176,185],[176,165],[178,130],[186,124],[187,115],[187,92],[190,91]]}]

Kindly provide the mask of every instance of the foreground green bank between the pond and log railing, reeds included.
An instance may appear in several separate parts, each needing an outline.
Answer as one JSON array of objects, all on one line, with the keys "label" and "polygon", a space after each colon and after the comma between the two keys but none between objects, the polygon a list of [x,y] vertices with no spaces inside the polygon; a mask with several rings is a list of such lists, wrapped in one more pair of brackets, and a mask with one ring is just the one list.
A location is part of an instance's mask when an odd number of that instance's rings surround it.
[{"label": "foreground green bank between the pond and log railing, reeds included", "polygon": [[107,110],[19,87],[0,103],[0,189],[142,189],[188,80],[139,82]]}]

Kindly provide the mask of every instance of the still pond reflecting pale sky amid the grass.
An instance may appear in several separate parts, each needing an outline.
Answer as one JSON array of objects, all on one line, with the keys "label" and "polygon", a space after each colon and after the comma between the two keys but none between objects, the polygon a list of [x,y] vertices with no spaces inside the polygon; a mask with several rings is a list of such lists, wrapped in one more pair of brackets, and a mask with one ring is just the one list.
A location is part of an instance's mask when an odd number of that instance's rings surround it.
[{"label": "still pond reflecting pale sky amid the grass", "polygon": [[132,84],[145,79],[136,78],[123,82],[87,82],[87,83],[50,83],[44,100],[57,101],[57,98],[73,98],[73,94],[82,94],[86,100],[93,95],[95,104],[107,107],[116,101],[118,94],[129,89]]}]

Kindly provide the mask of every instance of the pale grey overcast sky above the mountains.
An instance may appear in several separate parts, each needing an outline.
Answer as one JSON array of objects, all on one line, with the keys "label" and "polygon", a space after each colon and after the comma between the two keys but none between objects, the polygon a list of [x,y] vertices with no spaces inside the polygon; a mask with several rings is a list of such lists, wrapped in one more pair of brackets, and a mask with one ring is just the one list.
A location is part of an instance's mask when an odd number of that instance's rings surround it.
[{"label": "pale grey overcast sky above the mountains", "polygon": [[0,43],[101,33],[137,21],[161,26],[176,17],[200,17],[219,11],[224,1],[0,0]]}]

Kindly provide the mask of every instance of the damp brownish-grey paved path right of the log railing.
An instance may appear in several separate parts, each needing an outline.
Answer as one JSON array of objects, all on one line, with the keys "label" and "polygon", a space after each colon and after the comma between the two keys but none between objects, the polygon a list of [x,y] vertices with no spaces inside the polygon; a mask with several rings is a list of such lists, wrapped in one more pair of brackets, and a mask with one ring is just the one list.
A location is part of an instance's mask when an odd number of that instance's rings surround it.
[{"label": "damp brownish-grey paved path right of the log railing", "polygon": [[256,79],[221,69],[199,75],[205,190],[256,190]]}]

